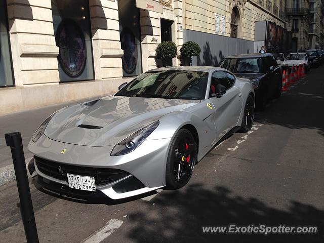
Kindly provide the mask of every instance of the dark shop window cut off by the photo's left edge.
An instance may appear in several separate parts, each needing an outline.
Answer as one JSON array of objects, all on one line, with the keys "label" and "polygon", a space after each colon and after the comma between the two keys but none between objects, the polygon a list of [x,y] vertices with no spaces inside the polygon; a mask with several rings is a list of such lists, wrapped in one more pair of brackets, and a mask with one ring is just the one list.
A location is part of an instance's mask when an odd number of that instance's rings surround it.
[{"label": "dark shop window cut off by the photo's left edge", "polygon": [[0,0],[0,87],[13,86],[6,0]]}]

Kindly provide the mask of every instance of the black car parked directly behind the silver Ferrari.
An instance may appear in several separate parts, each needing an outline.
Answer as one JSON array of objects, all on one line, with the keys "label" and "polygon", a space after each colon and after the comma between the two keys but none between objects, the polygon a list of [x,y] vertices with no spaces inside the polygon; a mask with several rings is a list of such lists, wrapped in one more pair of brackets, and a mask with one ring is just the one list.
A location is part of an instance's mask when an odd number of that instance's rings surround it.
[{"label": "black car parked directly behind the silver Ferrari", "polygon": [[267,101],[281,95],[281,68],[272,54],[242,54],[226,57],[220,67],[237,77],[248,78],[254,87],[256,106],[264,110]]}]

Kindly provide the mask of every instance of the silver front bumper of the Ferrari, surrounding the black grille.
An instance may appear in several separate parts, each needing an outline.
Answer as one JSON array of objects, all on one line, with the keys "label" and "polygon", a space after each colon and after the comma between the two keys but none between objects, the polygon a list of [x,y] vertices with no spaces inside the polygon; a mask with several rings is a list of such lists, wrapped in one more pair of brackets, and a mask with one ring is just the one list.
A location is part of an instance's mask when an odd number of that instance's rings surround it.
[{"label": "silver front bumper of the Ferrari, surrounding the black grille", "polygon": [[[129,154],[110,156],[113,146],[91,147],[67,144],[43,135],[36,143],[31,141],[28,149],[35,155],[36,160],[42,159],[43,165],[48,163],[51,168],[53,167],[53,170],[55,170],[55,166],[62,165],[63,171],[64,168],[73,167],[124,171],[124,176],[112,182],[98,185],[96,183],[97,191],[102,192],[111,199],[120,199],[165,186],[165,170],[170,141],[171,138],[146,140]],[[65,151],[62,153],[64,149]],[[73,194],[73,191],[75,195],[80,193],[80,190],[69,188],[67,179],[64,176],[60,178],[43,169],[38,168],[37,163],[35,163],[35,171],[32,174],[32,177],[41,177],[38,180],[41,179],[42,182],[45,182],[42,183],[42,186],[50,187],[50,183],[46,183],[50,181],[62,185],[61,192],[64,192],[63,188],[66,188],[68,194]],[[70,172],[67,171],[67,173]],[[75,174],[81,176],[91,175],[88,173],[83,174],[82,170]],[[91,192],[87,192],[87,194],[91,196]]]}]

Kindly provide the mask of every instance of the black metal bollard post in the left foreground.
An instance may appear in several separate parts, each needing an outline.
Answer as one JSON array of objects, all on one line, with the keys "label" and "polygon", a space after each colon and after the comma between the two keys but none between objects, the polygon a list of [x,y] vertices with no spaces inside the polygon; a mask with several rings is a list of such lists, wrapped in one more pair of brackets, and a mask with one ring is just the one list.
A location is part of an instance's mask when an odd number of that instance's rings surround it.
[{"label": "black metal bollard post in the left foreground", "polygon": [[38,243],[38,234],[32,208],[30,188],[27,177],[25,155],[20,132],[5,134],[6,144],[11,148],[16,181],[20,199],[20,212],[28,243]]}]

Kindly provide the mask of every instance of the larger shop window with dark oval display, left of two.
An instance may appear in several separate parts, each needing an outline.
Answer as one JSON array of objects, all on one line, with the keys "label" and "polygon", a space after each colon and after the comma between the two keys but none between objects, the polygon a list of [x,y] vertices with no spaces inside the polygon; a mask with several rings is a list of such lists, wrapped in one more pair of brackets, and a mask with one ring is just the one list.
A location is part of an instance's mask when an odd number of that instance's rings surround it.
[{"label": "larger shop window with dark oval display, left of two", "polygon": [[52,0],[60,82],[94,79],[88,0]]}]

